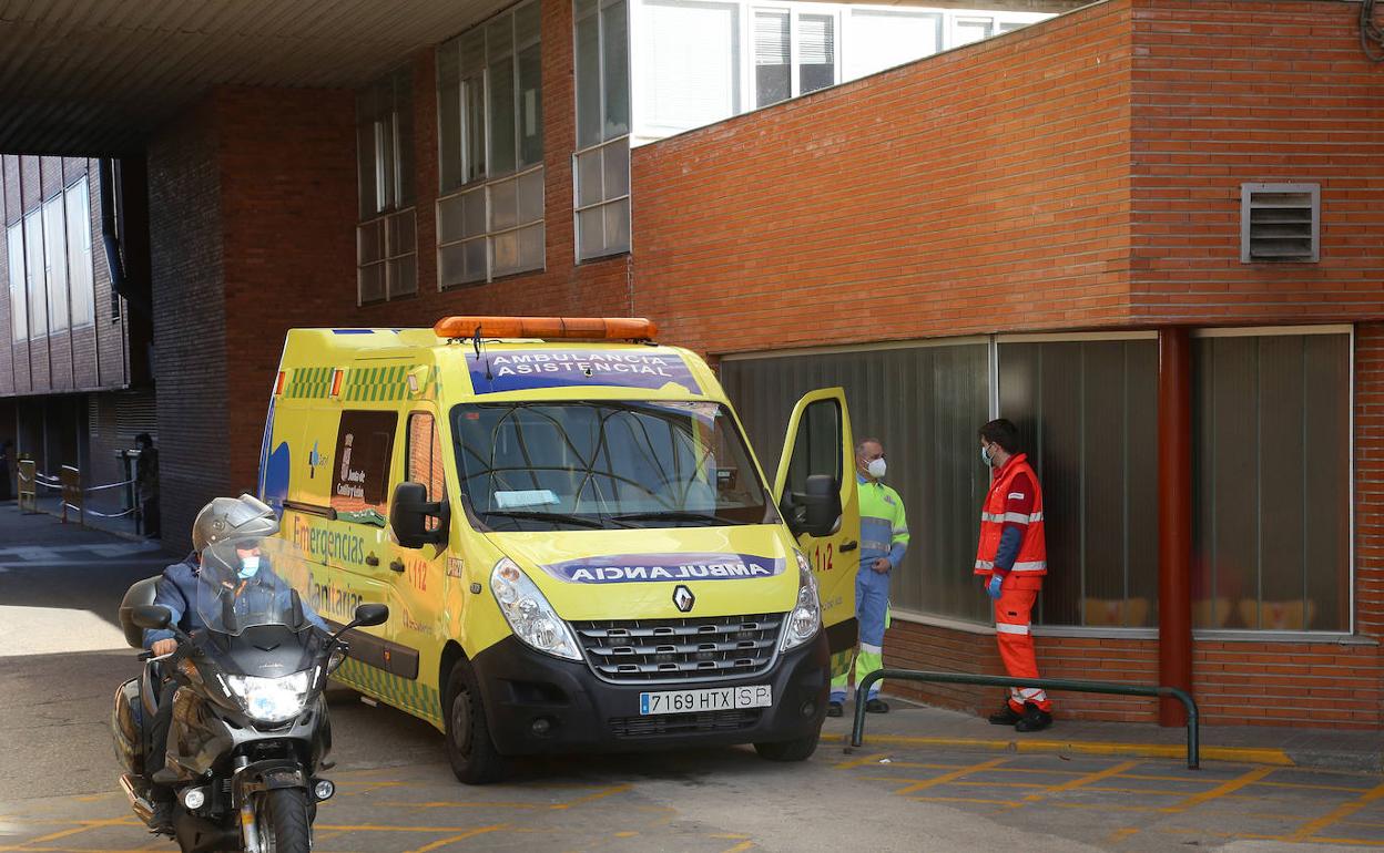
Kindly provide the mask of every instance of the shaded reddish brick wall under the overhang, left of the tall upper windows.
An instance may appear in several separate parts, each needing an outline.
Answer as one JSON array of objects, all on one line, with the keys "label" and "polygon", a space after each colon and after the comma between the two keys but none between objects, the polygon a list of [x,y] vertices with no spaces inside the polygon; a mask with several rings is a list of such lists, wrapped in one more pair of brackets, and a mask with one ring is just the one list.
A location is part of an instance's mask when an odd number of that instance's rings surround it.
[{"label": "shaded reddish brick wall under the overhang, left of the tall upper windows", "polygon": [[241,489],[256,484],[284,335],[349,318],[339,289],[356,270],[356,101],[349,91],[221,88],[212,104],[224,252],[224,303],[213,306],[226,317],[219,412],[235,437],[224,487]]}]

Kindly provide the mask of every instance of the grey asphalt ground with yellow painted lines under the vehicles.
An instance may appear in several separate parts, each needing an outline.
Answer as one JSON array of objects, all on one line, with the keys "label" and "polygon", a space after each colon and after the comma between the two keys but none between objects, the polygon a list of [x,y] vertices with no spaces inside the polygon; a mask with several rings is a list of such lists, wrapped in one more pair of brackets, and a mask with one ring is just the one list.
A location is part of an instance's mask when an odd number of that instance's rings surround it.
[{"label": "grey asphalt ground with yellow painted lines under the vehicles", "polygon": [[[107,730],[115,687],[138,672],[119,599],[167,561],[0,506],[0,852],[174,849],[130,816]],[[859,749],[847,751],[850,718],[829,720],[800,765],[749,748],[555,756],[468,788],[430,726],[350,691],[331,706],[327,853],[1384,846],[1384,777],[1304,767],[1239,730],[1207,730],[1207,742],[1243,752],[1187,770],[1172,735],[1092,737],[1063,722],[1023,740],[895,702],[868,718]]]}]

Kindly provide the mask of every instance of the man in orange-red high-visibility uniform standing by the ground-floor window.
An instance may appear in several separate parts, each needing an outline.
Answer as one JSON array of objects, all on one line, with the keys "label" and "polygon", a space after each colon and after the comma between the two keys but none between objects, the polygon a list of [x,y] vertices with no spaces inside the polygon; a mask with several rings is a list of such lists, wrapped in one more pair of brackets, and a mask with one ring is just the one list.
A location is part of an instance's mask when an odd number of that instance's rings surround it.
[{"label": "man in orange-red high-visibility uniform standing by the ground-floor window", "polygon": [[[1030,630],[1034,601],[1048,574],[1042,489],[1028,456],[1019,451],[1019,430],[1001,418],[980,427],[980,458],[990,466],[990,491],[980,513],[976,574],[995,603],[995,639],[1005,672],[1038,679]],[[1005,706],[990,715],[996,726],[1041,731],[1052,726],[1052,702],[1038,687],[1010,687]]]}]

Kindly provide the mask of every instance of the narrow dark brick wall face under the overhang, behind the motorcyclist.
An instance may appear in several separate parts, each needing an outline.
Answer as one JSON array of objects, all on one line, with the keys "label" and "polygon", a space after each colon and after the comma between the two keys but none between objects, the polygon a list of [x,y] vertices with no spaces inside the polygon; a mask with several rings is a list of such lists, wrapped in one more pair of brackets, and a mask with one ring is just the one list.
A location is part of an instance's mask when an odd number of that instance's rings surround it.
[{"label": "narrow dark brick wall face under the overhang, behind the motorcyclist", "polygon": [[[228,358],[217,116],[210,101],[151,144],[149,256],[165,543],[190,542],[197,510],[228,487]],[[245,341],[245,348],[249,348]],[[259,433],[256,433],[257,435]]]}]

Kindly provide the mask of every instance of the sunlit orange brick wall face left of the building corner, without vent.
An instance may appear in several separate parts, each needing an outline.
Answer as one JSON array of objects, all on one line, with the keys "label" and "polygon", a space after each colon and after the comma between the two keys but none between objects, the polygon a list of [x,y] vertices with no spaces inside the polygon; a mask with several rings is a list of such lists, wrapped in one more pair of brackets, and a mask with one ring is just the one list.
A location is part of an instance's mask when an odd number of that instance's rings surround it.
[{"label": "sunlit orange brick wall face left of the building corner, without vent", "polygon": [[717,353],[823,322],[832,343],[1120,322],[1128,17],[1099,4],[637,149],[637,311]]}]

